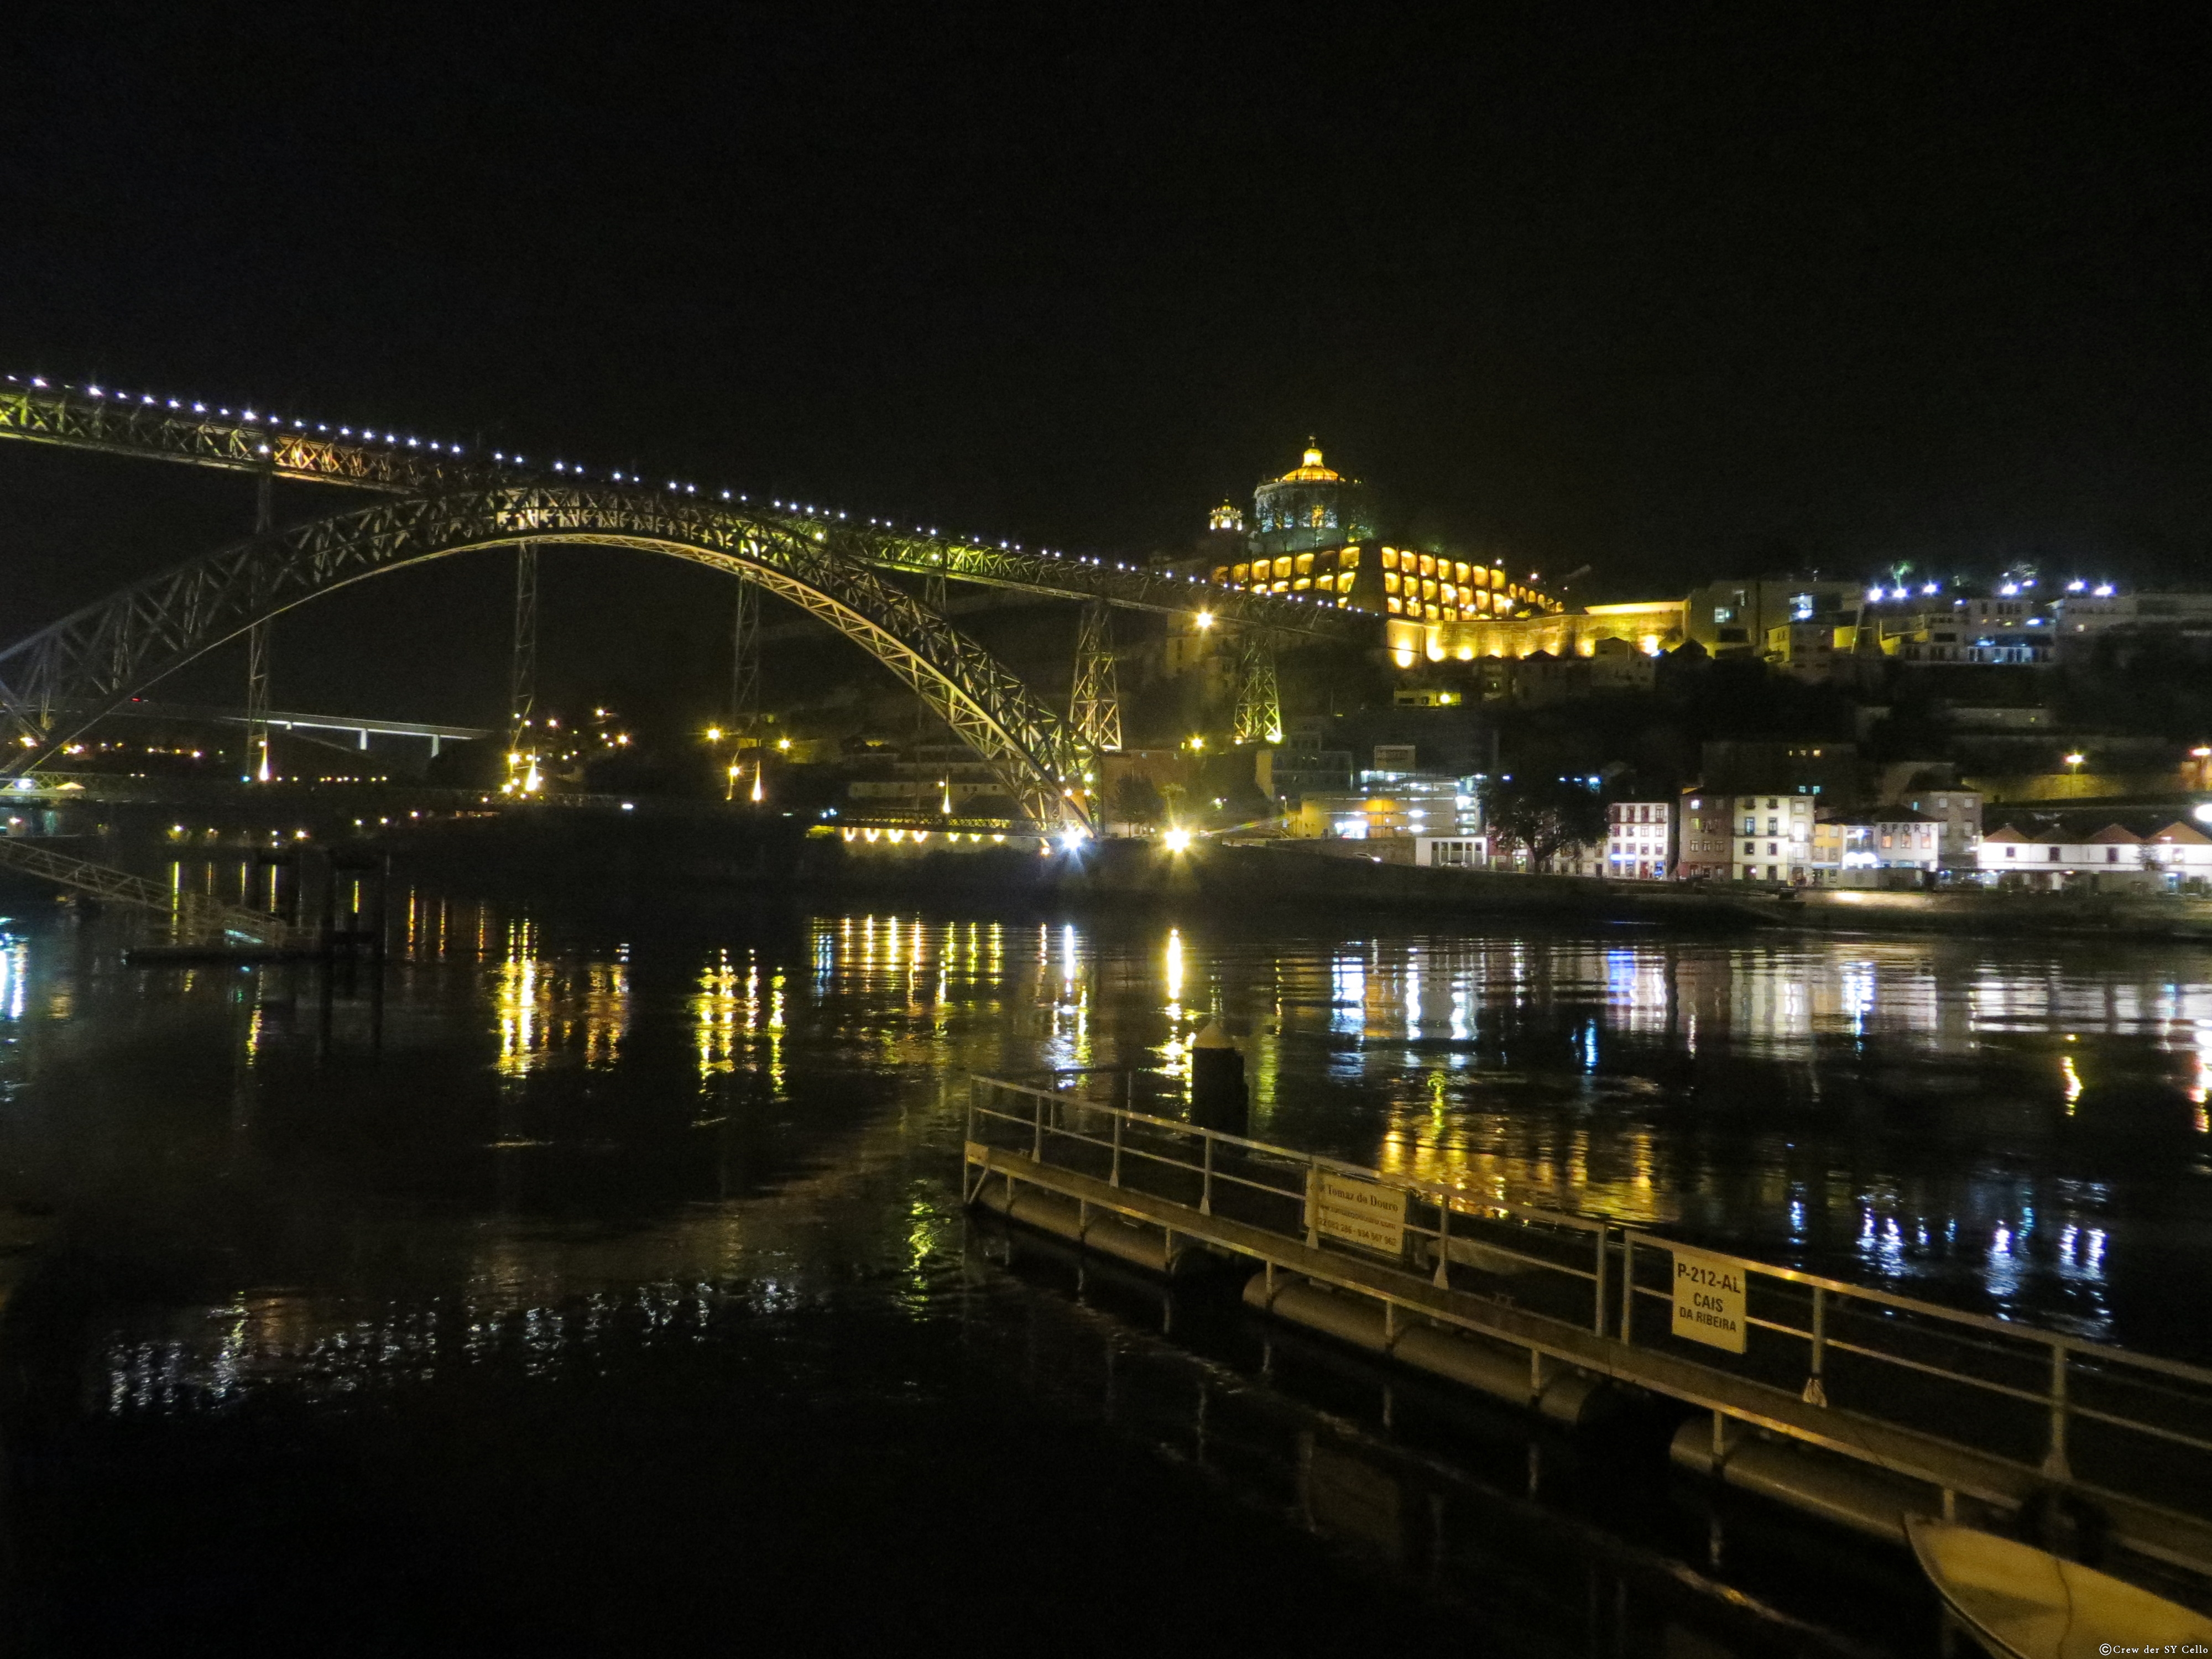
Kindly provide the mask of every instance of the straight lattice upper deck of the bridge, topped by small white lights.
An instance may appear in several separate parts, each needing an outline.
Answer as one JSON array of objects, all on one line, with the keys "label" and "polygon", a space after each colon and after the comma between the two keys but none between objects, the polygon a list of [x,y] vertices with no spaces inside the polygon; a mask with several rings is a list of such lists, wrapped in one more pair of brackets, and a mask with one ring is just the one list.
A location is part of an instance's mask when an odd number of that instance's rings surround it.
[{"label": "straight lattice upper deck of the bridge, topped by small white lights", "polygon": [[[294,482],[343,484],[394,495],[522,489],[529,484],[568,487],[549,471],[449,449],[409,447],[405,440],[365,442],[307,429],[305,422],[276,416],[248,422],[219,411],[170,409],[166,400],[93,398],[66,387],[31,387],[18,378],[0,380],[0,438],[274,473]],[[1188,615],[1203,608],[1228,624],[1265,624],[1292,637],[1363,641],[1374,639],[1380,626],[1380,617],[1371,611],[1307,604],[1292,595],[1239,593],[1139,564],[1024,553],[920,531],[900,535],[885,526],[852,524],[838,515],[770,513],[748,504],[701,500],[688,491],[648,491],[641,484],[615,484],[615,489],[659,500],[668,511],[728,518],[732,526],[774,524],[852,560],[936,582],[978,582],[1060,599],[1099,599],[1128,611]]]}]

